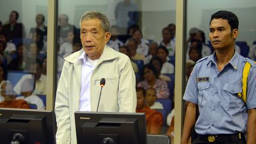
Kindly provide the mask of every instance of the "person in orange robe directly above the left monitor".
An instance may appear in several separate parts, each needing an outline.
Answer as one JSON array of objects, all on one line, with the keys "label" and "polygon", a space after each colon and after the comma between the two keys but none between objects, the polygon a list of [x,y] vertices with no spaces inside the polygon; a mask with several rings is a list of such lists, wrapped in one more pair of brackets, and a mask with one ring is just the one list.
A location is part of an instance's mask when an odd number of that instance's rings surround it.
[{"label": "person in orange robe directly above the left monitor", "polygon": [[15,100],[15,92],[11,83],[4,82],[1,87],[1,95],[4,97],[4,101],[0,103],[0,107],[7,108],[30,108],[28,103],[24,100]]}]

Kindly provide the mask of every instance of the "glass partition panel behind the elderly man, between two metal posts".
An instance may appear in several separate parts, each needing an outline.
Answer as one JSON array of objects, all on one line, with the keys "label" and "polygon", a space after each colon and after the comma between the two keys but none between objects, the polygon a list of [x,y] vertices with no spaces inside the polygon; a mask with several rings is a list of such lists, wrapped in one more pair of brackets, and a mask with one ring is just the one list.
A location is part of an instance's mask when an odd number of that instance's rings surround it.
[{"label": "glass partition panel behind the elderly man, between two metal posts", "polygon": [[[174,115],[172,108],[174,107],[176,2],[174,0],[161,2],[63,0],[58,3],[58,75],[62,71],[63,59],[82,48],[79,37],[81,15],[89,10],[103,12],[111,25],[111,39],[107,45],[130,57],[137,87],[146,90],[153,88],[153,91],[150,89],[147,91],[148,95],[145,96],[143,103],[151,105],[152,109],[162,114],[162,118],[159,131],[149,133],[168,133],[172,137],[174,127],[169,129],[169,125]],[[161,48],[158,50],[159,46]],[[151,75],[154,81],[157,81],[152,85],[149,85],[151,80],[146,78],[143,69],[148,63],[153,66],[153,71],[155,69],[157,71],[156,75]]]}]

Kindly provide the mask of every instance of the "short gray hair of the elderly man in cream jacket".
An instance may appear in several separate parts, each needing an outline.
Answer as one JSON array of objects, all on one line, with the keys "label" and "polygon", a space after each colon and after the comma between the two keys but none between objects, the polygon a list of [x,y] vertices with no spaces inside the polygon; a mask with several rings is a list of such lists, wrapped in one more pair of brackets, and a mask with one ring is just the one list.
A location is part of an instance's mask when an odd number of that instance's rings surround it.
[{"label": "short gray hair of the elderly man in cream jacket", "polygon": [[81,23],[84,20],[98,19],[101,22],[101,28],[103,28],[104,32],[110,31],[110,22],[107,16],[98,11],[87,11],[85,12],[80,19],[80,28]]}]

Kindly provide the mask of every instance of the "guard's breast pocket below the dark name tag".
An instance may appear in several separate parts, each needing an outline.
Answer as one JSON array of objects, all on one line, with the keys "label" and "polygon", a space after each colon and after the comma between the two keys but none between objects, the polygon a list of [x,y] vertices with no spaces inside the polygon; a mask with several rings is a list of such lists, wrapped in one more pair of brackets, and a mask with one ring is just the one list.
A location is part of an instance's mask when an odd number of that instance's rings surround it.
[{"label": "guard's breast pocket below the dark name tag", "polygon": [[210,82],[198,82],[197,88],[199,89],[199,105],[206,104],[207,95],[209,95]]}]

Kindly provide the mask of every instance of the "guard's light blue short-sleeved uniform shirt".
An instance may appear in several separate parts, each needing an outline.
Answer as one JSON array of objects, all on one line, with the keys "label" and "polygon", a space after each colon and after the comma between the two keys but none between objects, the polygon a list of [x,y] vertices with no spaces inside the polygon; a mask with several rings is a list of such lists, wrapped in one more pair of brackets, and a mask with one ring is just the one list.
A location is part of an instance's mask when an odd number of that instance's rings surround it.
[{"label": "guard's light blue short-sleeved uniform shirt", "polygon": [[[242,92],[242,71],[251,63],[247,85],[247,104]],[[196,132],[200,135],[247,132],[247,109],[256,107],[256,66],[237,52],[219,72],[216,54],[200,59],[191,73],[183,99],[199,104]]]}]

